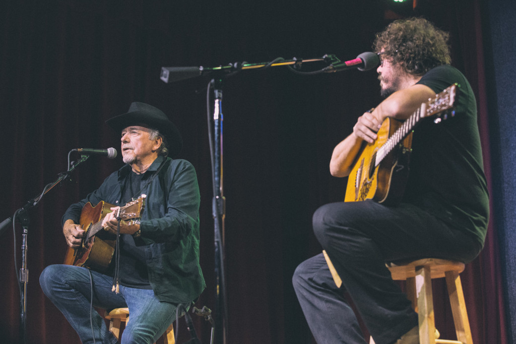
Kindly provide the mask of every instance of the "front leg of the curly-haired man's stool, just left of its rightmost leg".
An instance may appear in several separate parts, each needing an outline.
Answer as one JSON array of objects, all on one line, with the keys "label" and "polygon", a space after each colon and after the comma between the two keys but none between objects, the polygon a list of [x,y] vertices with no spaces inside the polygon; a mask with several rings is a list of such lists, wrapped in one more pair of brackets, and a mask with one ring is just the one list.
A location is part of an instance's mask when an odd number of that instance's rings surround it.
[{"label": "front leg of the curly-haired man's stool, just left of its rightmost leg", "polygon": [[417,309],[420,328],[420,343],[436,343],[436,323],[433,315],[432,280],[430,267],[416,267],[416,279],[423,279],[421,288],[417,286]]}]

